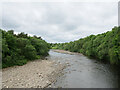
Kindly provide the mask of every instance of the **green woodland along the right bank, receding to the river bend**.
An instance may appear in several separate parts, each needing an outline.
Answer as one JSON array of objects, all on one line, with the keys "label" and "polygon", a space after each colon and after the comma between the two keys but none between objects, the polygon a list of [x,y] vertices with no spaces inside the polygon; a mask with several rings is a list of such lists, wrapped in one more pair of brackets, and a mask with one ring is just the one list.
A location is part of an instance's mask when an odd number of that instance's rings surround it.
[{"label": "green woodland along the right bank, receding to the river bend", "polygon": [[69,43],[51,44],[52,49],[79,52],[111,64],[120,65],[120,27],[98,35],[90,35]]}]

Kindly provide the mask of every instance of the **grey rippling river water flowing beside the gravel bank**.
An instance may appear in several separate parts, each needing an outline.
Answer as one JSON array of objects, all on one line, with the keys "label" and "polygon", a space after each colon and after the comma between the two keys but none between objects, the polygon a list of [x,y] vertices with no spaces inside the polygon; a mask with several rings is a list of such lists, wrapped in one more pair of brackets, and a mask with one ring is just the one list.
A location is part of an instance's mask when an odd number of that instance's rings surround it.
[{"label": "grey rippling river water flowing beside the gravel bank", "polygon": [[50,50],[48,60],[69,63],[64,75],[57,78],[52,88],[118,88],[117,69],[81,54],[64,54]]}]

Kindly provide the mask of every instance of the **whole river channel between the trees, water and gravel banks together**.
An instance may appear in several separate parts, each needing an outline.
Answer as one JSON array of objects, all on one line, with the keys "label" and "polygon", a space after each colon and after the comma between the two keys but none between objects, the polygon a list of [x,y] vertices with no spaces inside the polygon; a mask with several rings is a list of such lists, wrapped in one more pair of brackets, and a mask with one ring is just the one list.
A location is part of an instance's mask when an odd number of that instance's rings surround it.
[{"label": "whole river channel between the trees, water and gravel banks together", "polygon": [[117,88],[117,69],[80,53],[50,50],[47,60],[2,70],[3,88]]}]

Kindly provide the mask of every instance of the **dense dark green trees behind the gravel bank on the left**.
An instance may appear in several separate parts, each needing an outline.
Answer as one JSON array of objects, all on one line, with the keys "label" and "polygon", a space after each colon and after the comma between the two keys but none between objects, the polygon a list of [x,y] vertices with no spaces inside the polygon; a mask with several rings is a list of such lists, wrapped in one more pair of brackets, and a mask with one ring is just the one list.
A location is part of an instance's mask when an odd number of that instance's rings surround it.
[{"label": "dense dark green trees behind the gravel bank on the left", "polygon": [[[2,32],[2,67],[24,65],[27,61],[48,55],[50,45],[41,37],[28,36],[24,32],[16,35],[13,30]],[[0,40],[1,41],[1,40]]]}]

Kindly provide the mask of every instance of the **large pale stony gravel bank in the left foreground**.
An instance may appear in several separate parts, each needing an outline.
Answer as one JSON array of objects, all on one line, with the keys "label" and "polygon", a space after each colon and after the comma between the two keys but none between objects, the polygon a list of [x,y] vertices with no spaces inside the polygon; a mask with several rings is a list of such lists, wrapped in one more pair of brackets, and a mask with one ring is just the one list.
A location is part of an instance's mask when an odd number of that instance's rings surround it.
[{"label": "large pale stony gravel bank in the left foreground", "polygon": [[50,87],[66,67],[50,60],[35,60],[23,66],[2,69],[2,88]]}]

